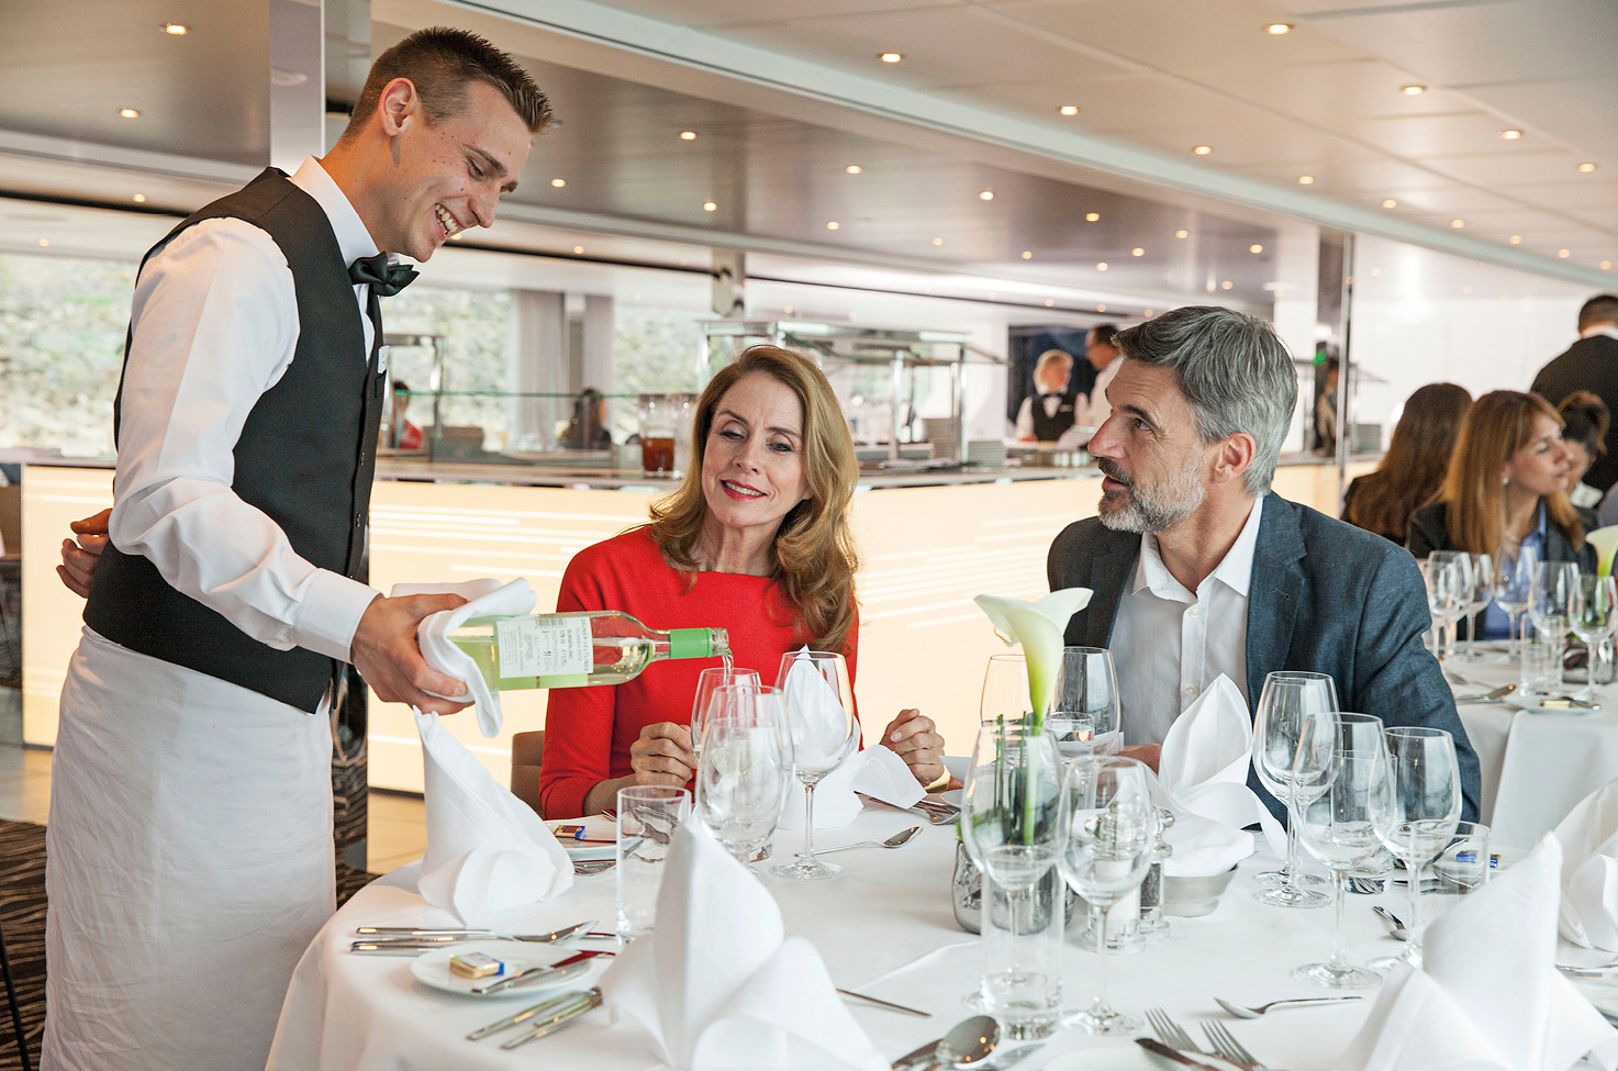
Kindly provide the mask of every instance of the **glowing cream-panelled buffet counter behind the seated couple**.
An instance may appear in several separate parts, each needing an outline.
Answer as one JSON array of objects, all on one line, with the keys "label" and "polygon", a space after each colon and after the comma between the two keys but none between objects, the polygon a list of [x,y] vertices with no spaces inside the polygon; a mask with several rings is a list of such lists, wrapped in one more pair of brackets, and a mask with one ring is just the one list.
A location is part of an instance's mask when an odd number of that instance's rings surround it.
[{"label": "glowing cream-panelled buffet counter behind the seated couple", "polygon": [[[1349,476],[1369,468],[1361,463]],[[568,560],[647,516],[671,489],[637,472],[495,464],[383,461],[371,500],[371,582],[527,578],[539,610],[555,607]],[[1275,492],[1336,513],[1336,468],[1283,464]],[[1094,469],[877,472],[854,495],[864,560],[859,679],[867,730],[919,707],[959,751],[972,739],[984,662],[1003,650],[979,594],[1036,599],[1047,591],[1045,552],[1063,526],[1092,516]],[[68,521],[112,502],[112,469],[95,463],[29,464],[23,477],[23,736],[53,744],[57,696],[78,646],[81,600],[53,568]],[[647,621],[657,628],[657,621]],[[722,624],[715,621],[715,624]],[[948,652],[945,655],[943,652]],[[484,739],[474,718],[447,725],[503,783],[515,731],[542,728],[544,692],[506,692],[505,728]],[[421,747],[409,710],[371,705],[371,785],[421,789]]]}]

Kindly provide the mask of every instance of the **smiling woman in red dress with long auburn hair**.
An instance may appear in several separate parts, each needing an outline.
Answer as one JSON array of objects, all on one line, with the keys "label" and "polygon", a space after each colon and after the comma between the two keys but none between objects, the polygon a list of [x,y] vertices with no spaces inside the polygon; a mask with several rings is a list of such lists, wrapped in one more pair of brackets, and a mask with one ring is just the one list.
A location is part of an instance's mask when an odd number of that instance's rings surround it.
[{"label": "smiling woman in red dress with long auburn hair", "polygon": [[[652,628],[723,628],[736,665],[775,684],[804,644],[859,654],[858,557],[848,526],[859,466],[837,396],[812,361],[752,346],[697,400],[693,464],[652,523],[573,557],[557,612],[623,610]],[[553,688],[539,799],[549,819],[599,814],[629,785],[686,785],[697,662],[659,662],[613,688]],[[883,730],[922,785],[945,775],[932,718]]]}]

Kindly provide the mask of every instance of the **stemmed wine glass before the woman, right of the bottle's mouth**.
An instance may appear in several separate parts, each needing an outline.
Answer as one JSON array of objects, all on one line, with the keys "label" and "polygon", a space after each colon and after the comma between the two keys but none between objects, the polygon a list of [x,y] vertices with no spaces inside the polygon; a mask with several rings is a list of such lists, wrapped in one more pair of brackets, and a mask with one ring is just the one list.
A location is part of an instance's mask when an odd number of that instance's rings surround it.
[{"label": "stemmed wine glass before the woman, right of the bottle's mouth", "polygon": [[828,650],[790,652],[781,655],[775,683],[786,710],[793,770],[804,783],[804,848],[794,862],[770,872],[806,882],[832,878],[843,867],[814,857],[814,786],[859,746],[848,663],[843,655]]}]

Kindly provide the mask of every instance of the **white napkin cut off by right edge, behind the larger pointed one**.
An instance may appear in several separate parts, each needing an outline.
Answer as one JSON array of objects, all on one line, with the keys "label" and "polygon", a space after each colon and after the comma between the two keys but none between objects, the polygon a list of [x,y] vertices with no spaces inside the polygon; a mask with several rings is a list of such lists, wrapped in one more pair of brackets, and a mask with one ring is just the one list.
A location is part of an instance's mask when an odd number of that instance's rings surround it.
[{"label": "white napkin cut off by right edge, behind the larger pointed one", "polygon": [[1618,959],[1618,781],[1595,789],[1555,830],[1561,843],[1561,963]]}]

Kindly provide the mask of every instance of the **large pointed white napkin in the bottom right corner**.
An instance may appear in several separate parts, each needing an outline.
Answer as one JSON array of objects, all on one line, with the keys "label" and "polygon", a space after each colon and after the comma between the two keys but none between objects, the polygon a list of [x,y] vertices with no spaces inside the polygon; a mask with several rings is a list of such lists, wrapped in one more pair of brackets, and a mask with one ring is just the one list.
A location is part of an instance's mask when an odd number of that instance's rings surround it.
[{"label": "large pointed white napkin in the bottom right corner", "polygon": [[1565,1071],[1618,1065],[1618,1031],[1555,966],[1561,848],[1550,835],[1438,916],[1424,971],[1383,984],[1340,1071]]}]

